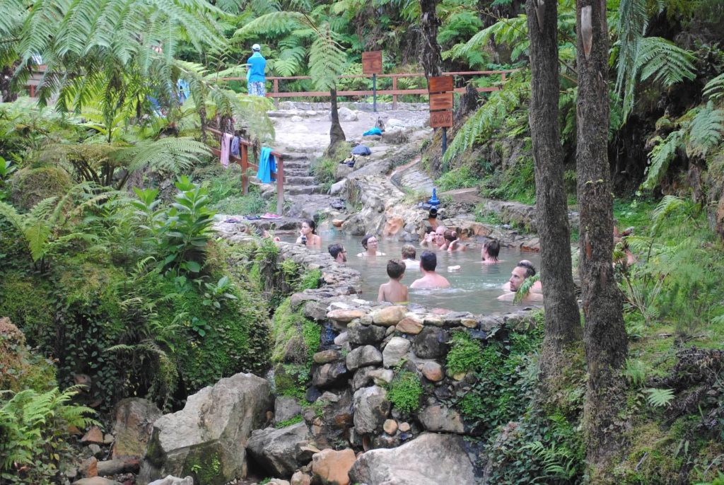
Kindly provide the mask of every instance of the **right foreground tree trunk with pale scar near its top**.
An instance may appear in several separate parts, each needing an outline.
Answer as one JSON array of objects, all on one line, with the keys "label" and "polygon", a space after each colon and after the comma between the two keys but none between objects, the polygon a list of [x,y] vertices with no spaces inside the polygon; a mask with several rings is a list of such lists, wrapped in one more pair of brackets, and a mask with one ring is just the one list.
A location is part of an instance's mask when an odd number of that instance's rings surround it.
[{"label": "right foreground tree trunk with pale scar near its top", "polygon": [[608,32],[605,0],[576,1],[578,102],[578,262],[584,307],[588,387],[584,405],[591,483],[613,482],[612,461],[622,430],[615,422],[625,405],[620,369],[628,342],[621,295],[613,277],[613,197],[607,155]]}]

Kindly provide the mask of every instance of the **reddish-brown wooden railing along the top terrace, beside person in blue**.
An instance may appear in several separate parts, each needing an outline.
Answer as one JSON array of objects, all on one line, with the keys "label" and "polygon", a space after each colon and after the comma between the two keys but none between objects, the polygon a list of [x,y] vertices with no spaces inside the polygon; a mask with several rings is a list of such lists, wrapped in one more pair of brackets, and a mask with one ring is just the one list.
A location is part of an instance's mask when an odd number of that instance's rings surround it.
[{"label": "reddish-brown wooden railing along the top terrace, beside person in blue", "polygon": [[[455,72],[443,72],[445,76],[479,76],[479,75],[500,75],[500,81],[505,82],[506,75],[510,72],[515,72],[517,69],[508,69],[504,71],[455,71]],[[392,109],[397,109],[397,96],[404,96],[408,94],[427,94],[427,88],[424,89],[397,89],[397,80],[400,77],[425,77],[424,73],[414,72],[407,74],[378,74],[377,78],[392,78],[392,89],[378,89],[377,94],[388,94],[392,95]],[[340,76],[342,79],[371,79],[372,75],[346,75]],[[246,77],[222,77],[222,80],[226,81],[245,81]],[[274,90],[266,93],[267,98],[274,98],[276,104],[279,98],[308,98],[308,97],[327,97],[329,91],[279,91],[280,80],[299,80],[299,79],[311,79],[311,76],[270,76],[266,77],[267,81],[272,81]],[[464,93],[466,88],[455,88],[455,93]],[[497,91],[500,88],[497,86],[488,86],[485,88],[477,88],[479,93]],[[340,90],[337,91],[337,96],[372,96],[372,90]]]}]

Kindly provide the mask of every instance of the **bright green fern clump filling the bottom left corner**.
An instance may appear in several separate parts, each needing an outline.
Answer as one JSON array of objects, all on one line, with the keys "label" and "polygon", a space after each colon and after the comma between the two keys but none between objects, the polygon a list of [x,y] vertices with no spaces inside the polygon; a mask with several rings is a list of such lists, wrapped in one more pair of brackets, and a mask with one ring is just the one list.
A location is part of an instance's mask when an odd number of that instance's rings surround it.
[{"label": "bright green fern clump filling the bottom left corner", "polygon": [[55,483],[59,464],[70,458],[68,426],[95,423],[94,411],[70,404],[78,389],[57,387],[0,392],[0,478],[11,484]]}]

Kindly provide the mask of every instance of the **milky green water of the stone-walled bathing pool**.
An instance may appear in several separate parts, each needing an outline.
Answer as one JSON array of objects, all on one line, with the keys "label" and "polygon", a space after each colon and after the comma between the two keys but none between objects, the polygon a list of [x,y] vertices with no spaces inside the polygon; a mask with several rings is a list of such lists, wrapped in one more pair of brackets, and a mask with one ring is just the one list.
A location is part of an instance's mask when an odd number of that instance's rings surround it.
[{"label": "milky green water of the stone-walled bathing pool", "polygon": [[[350,237],[341,232],[329,229],[321,232],[322,251],[327,253],[327,246],[332,242],[340,242],[348,250],[347,265],[362,274],[362,294],[364,300],[376,300],[379,285],[389,281],[387,277],[387,261],[391,258],[402,258],[402,247],[404,242],[397,240],[385,240],[380,238],[379,250],[387,256],[375,258],[359,258],[363,248],[360,244],[362,237]],[[282,236],[282,240],[292,241],[292,237]],[[418,253],[425,248],[420,248],[419,243],[413,244]],[[494,265],[482,264],[480,260],[481,245],[475,244],[462,253],[447,253],[447,251],[436,250],[437,272],[450,281],[450,288],[445,290],[409,290],[410,302],[424,305],[427,308],[447,308],[454,311],[469,311],[474,314],[489,314],[497,312],[512,311],[521,308],[510,302],[502,302],[497,297],[502,295],[502,284],[510,278],[510,271],[515,263],[521,259],[527,259],[539,267],[540,256],[538,253],[521,253],[520,250],[502,248],[500,250],[501,262]],[[330,256],[331,258],[331,256]],[[458,266],[460,270],[449,271],[448,266]],[[405,271],[402,283],[409,285],[421,274],[416,269]]]}]

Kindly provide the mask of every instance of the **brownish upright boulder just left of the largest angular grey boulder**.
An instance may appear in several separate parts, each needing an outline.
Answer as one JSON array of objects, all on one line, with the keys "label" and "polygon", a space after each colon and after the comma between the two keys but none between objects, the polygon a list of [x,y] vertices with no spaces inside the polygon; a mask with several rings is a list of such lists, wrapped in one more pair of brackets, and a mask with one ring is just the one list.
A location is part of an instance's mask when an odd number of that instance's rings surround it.
[{"label": "brownish upright boulder just left of the largest angular grey boulder", "polygon": [[116,405],[113,434],[113,457],[143,457],[153,423],[163,416],[153,402],[140,397],[128,397]]}]

